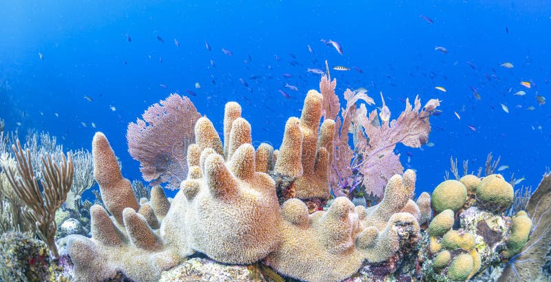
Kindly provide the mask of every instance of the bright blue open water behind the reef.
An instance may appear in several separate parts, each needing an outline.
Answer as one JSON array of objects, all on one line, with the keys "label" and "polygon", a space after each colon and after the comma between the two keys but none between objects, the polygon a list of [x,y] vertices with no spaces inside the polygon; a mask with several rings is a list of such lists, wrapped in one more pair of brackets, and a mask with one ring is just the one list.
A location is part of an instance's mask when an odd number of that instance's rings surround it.
[{"label": "bright blue open water behind the reef", "polygon": [[[320,76],[306,68],[324,69],[327,59],[331,66],[364,71],[331,71],[343,104],[342,92],[360,87],[379,106],[382,91],[393,118],[404,109],[400,100],[406,97],[444,101],[441,116],[430,119],[433,147],[397,147],[404,167],[417,170],[417,193],[432,191],[443,180],[450,156],[459,163],[468,159],[475,170],[490,151],[510,167],[502,172],[506,179],[514,172],[526,177],[522,184],[537,185],[551,165],[551,105],[540,106],[535,99],[536,94],[551,97],[550,17],[551,1],[535,0],[4,0],[0,117],[6,130],[45,130],[67,149],[90,150],[94,132],[102,131],[121,158],[123,175],[141,179],[125,133],[127,124],[152,103],[170,92],[192,90],[199,112],[221,132],[224,104],[238,101],[252,125],[253,140],[278,148],[287,118],[300,116],[306,92],[318,89]],[[344,55],[320,39],[338,41]],[[222,48],[233,55],[223,54]],[[500,67],[507,61],[514,68]],[[532,88],[521,81],[530,81]],[[195,89],[196,82],[201,88]],[[286,83],[299,91],[284,88]],[[519,90],[526,96],[513,95]],[[535,109],[526,110],[530,105]],[[408,160],[406,152],[413,157]]]}]

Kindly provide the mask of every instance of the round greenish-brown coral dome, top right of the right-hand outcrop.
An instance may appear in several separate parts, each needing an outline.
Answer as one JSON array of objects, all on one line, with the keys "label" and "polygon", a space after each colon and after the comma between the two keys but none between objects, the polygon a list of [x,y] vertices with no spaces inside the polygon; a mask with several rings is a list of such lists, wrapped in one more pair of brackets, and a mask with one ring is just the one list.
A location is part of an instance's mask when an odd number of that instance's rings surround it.
[{"label": "round greenish-brown coral dome, top right of the right-hand outcrop", "polygon": [[487,210],[506,210],[512,204],[513,198],[514,190],[501,174],[484,177],[477,187],[477,201]]}]

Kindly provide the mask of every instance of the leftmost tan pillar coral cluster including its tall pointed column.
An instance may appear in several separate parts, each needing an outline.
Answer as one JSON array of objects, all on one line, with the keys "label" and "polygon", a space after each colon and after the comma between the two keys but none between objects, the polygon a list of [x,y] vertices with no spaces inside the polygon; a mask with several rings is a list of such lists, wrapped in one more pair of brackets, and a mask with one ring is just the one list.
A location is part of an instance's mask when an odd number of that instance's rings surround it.
[{"label": "leftmost tan pillar coral cluster including its tall pointed column", "polygon": [[129,181],[122,177],[109,141],[101,132],[94,136],[92,153],[94,175],[113,219],[101,205],[93,205],[90,208],[92,238],[72,235],[67,240],[76,279],[103,281],[121,272],[135,281],[156,281],[162,270],[174,267],[181,259],[154,231],[159,225],[156,212],[162,214],[168,209],[165,194],[154,188],[152,201],[139,205]]}]

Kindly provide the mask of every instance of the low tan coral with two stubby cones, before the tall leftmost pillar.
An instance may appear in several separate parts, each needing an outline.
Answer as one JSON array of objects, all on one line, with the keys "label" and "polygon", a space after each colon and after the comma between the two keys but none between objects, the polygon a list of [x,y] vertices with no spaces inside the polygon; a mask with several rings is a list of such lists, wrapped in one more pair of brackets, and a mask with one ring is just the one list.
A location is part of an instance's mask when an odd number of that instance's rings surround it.
[{"label": "low tan coral with two stubby cones, before the tall leftmost pillar", "polygon": [[92,239],[72,235],[67,249],[74,262],[76,281],[103,281],[118,272],[135,281],[157,281],[162,270],[178,264],[180,256],[149,228],[132,208],[123,211],[120,230],[100,205],[90,209]]}]

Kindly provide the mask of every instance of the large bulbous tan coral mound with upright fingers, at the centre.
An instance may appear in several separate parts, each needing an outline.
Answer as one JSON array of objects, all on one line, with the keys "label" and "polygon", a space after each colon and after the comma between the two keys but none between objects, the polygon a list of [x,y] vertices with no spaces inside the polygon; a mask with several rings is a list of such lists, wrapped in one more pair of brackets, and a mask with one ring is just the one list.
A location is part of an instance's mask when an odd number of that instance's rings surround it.
[{"label": "large bulbous tan coral mound with upright fingers, at the centre", "polygon": [[[280,215],[275,183],[256,172],[256,153],[251,145],[251,127],[239,117],[238,105],[226,107],[226,161],[222,142],[212,123],[202,117],[196,124],[196,143],[188,152],[190,171],[171,203],[160,234],[178,246],[180,254],[191,250],[223,263],[253,263],[271,252],[280,234]],[[228,131],[229,130],[229,134]],[[196,148],[202,152],[197,158]]]}]

